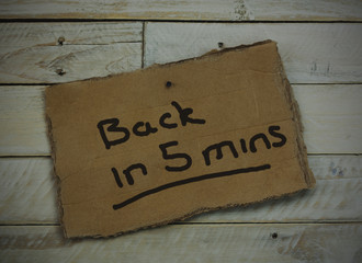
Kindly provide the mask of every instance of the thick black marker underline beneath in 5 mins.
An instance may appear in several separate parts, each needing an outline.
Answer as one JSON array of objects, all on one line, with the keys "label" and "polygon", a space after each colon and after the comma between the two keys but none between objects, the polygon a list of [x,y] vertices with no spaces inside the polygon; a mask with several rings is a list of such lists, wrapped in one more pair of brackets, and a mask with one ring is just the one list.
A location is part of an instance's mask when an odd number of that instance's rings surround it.
[{"label": "thick black marker underline beneath in 5 mins", "polygon": [[262,171],[262,170],[267,170],[270,169],[271,165],[270,164],[263,164],[263,165],[259,165],[259,167],[250,167],[250,168],[240,168],[240,169],[235,169],[235,170],[230,170],[230,171],[224,171],[224,172],[216,172],[216,173],[208,173],[208,174],[204,174],[204,175],[200,175],[200,176],[195,176],[195,178],[189,178],[189,179],[184,179],[184,180],[180,180],[180,181],[176,181],[172,183],[168,183],[168,184],[163,184],[160,185],[156,188],[151,188],[151,190],[147,190],[145,192],[142,192],[140,194],[137,194],[120,204],[113,205],[113,209],[120,209],[122,207],[125,207],[126,205],[129,205],[140,198],[146,197],[147,195],[151,195],[151,194],[156,194],[158,192],[161,192],[163,190],[167,188],[172,188],[176,186],[180,186],[183,184],[189,184],[189,183],[194,183],[194,182],[199,182],[199,181],[203,181],[203,180],[208,180],[208,179],[215,179],[215,178],[224,178],[224,176],[230,176],[230,175],[235,175],[235,174],[239,174],[239,173],[249,173],[249,172],[258,172],[258,171]]}]

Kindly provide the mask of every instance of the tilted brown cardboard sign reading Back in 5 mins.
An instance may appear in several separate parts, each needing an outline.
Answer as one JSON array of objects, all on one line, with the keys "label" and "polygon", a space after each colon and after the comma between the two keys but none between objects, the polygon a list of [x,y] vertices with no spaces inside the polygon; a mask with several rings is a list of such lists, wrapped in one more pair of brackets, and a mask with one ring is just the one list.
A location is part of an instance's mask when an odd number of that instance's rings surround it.
[{"label": "tilted brown cardboard sign reading Back in 5 mins", "polygon": [[314,185],[276,44],[49,87],[67,237],[108,237]]}]

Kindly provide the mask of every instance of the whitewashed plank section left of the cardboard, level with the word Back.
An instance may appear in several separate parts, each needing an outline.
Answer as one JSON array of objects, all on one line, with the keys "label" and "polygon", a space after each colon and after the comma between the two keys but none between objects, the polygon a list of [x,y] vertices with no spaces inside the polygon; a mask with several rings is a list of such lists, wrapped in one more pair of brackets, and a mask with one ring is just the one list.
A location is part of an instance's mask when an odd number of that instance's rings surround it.
[{"label": "whitewashed plank section left of the cardboard, level with the word Back", "polygon": [[2,155],[50,152],[44,107],[44,87],[0,87]]}]

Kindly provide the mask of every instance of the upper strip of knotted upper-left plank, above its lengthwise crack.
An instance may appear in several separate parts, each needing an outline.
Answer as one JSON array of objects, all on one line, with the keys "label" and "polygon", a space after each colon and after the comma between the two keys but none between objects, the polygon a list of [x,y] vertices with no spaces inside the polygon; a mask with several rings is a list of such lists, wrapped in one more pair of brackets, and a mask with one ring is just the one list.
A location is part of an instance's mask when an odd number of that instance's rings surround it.
[{"label": "upper strip of knotted upper-left plank, above its lengthwise crack", "polygon": [[[1,1],[0,5],[3,4]],[[142,22],[1,23],[0,53],[4,47],[109,45],[142,42]],[[64,37],[60,44],[59,37]]]}]

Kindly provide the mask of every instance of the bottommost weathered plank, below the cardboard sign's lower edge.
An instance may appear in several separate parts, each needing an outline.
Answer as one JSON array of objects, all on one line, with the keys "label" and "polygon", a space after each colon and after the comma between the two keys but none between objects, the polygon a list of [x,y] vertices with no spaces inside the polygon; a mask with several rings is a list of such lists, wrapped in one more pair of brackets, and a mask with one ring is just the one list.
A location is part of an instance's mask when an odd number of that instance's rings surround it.
[{"label": "bottommost weathered plank, below the cardboard sign's lower edge", "polygon": [[22,263],[340,263],[362,261],[361,240],[361,224],[168,226],[86,240],[65,240],[58,227],[0,227],[0,256]]}]

